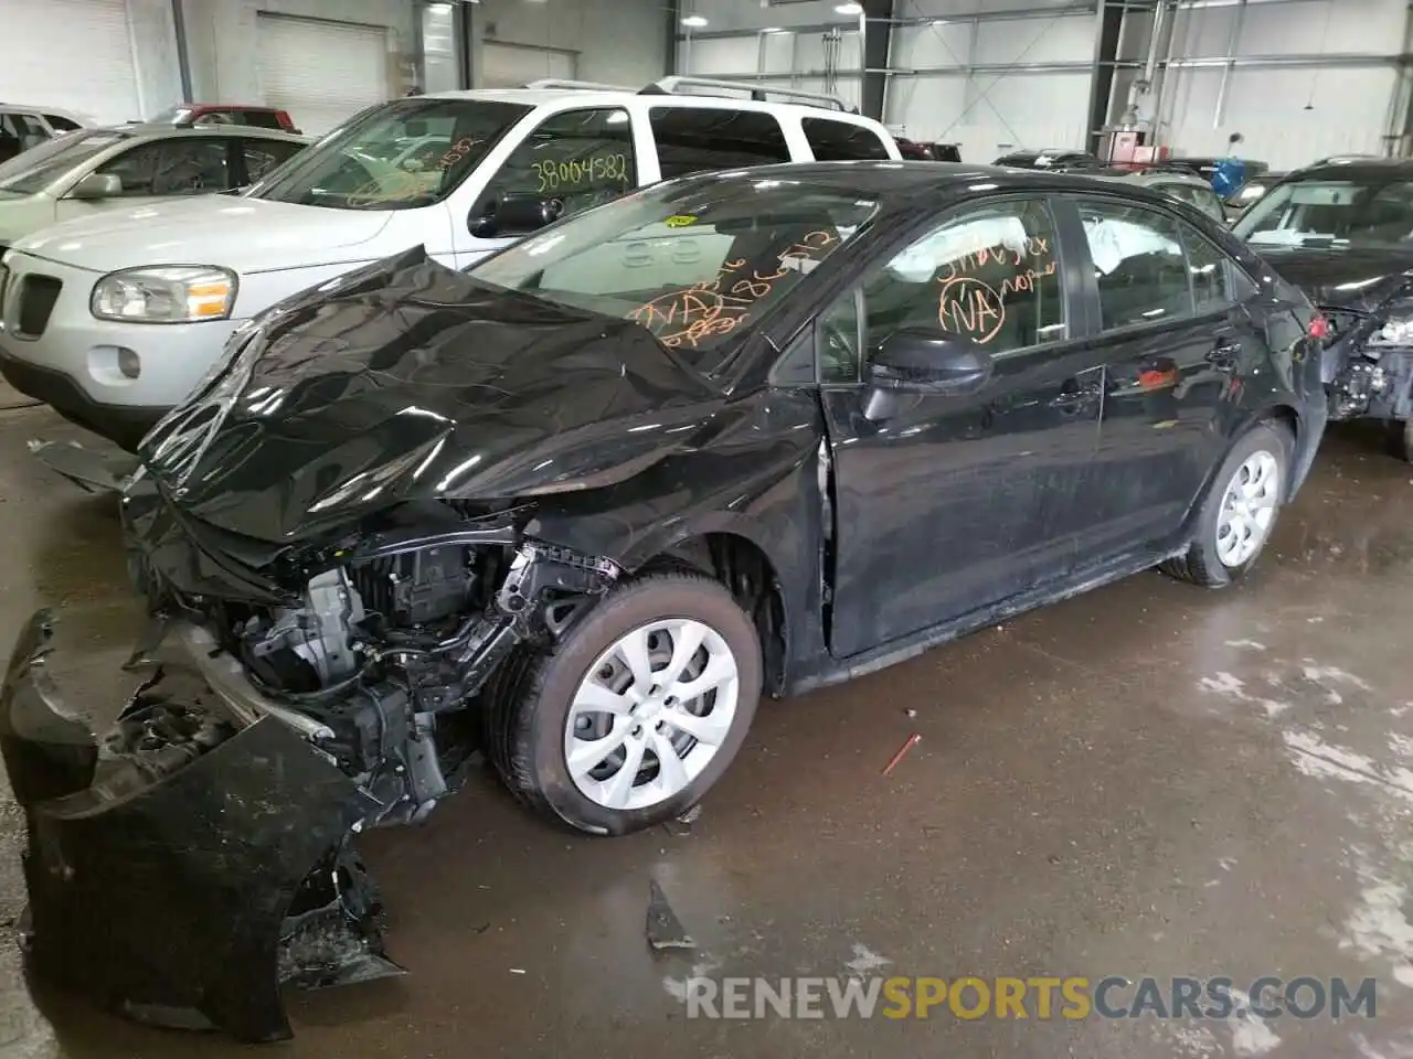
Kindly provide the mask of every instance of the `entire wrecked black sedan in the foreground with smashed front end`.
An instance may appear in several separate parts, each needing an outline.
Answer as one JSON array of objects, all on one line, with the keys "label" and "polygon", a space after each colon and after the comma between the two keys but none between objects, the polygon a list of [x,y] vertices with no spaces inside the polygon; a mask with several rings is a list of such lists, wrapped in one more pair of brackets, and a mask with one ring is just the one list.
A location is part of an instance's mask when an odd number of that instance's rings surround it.
[{"label": "entire wrecked black sedan in the foreground with smashed front end", "polygon": [[1324,431],[1316,319],[1170,196],[927,162],[685,176],[276,305],[124,490],[157,624],[117,729],[64,709],[47,616],[11,657],[35,966],[285,1036],[278,983],[396,970],[349,842],[476,748],[623,834],[762,695],[1239,579]]}]

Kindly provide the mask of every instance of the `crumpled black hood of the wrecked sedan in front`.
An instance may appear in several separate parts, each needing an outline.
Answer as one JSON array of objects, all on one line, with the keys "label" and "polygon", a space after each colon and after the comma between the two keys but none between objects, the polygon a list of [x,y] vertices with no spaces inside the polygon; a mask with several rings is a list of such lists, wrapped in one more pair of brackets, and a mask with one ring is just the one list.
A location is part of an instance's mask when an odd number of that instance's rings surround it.
[{"label": "crumpled black hood of the wrecked sedan in front", "polygon": [[723,400],[644,328],[421,249],[281,304],[232,350],[143,457],[188,514],[263,541],[404,500],[613,484],[692,443]]}]

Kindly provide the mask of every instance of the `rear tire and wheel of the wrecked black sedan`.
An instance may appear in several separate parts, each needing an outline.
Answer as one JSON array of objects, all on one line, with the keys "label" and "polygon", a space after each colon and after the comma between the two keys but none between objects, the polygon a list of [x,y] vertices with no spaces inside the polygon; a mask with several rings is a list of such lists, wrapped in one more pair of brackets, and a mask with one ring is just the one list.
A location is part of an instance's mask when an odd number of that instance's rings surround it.
[{"label": "rear tire and wheel of the wrecked black sedan", "polygon": [[[1221,589],[1245,578],[1246,572],[1256,565],[1262,551],[1265,551],[1280,508],[1286,503],[1294,445],[1294,435],[1290,432],[1290,428],[1272,421],[1259,422],[1238,438],[1236,443],[1226,453],[1226,459],[1222,460],[1221,469],[1212,477],[1207,496],[1202,498],[1202,505],[1197,514],[1197,528],[1187,546],[1187,552],[1169,559],[1159,569],[1173,578],[1208,589]],[[1232,539],[1229,537],[1232,532],[1231,527],[1224,528],[1222,525],[1224,505],[1226,504],[1228,490],[1235,484],[1235,479],[1246,474],[1246,480],[1249,480],[1251,462],[1263,463],[1259,457],[1260,453],[1265,453],[1275,462],[1275,477],[1270,486],[1273,494],[1269,496],[1270,517],[1265,525],[1259,527],[1259,539],[1253,541],[1253,551],[1248,552],[1245,548],[1236,548],[1234,552],[1229,545],[1224,545],[1224,542]],[[1262,510],[1265,510],[1265,498],[1262,500]],[[1258,535],[1255,532],[1258,530],[1256,522],[1255,517],[1243,521],[1243,525],[1252,527],[1252,538]],[[1248,544],[1248,546],[1251,545]]]}]

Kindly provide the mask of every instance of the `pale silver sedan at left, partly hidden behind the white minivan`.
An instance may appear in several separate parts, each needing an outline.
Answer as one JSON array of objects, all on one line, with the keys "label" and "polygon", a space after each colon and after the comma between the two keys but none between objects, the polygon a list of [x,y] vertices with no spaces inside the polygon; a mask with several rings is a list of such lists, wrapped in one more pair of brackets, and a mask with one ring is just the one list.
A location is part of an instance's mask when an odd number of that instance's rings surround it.
[{"label": "pale silver sedan at left, partly hidden behind the white minivan", "polygon": [[61,220],[134,199],[208,195],[254,182],[312,140],[246,126],[83,128],[0,165],[0,254]]}]

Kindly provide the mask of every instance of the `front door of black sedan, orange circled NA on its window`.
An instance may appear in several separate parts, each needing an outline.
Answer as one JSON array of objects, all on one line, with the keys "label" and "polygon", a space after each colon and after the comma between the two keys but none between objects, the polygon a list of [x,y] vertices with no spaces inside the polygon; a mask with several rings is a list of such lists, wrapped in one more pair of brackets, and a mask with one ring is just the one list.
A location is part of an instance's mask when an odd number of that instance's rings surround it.
[{"label": "front door of black sedan, orange circled NA on its window", "polygon": [[[959,617],[1082,558],[1102,363],[1070,337],[1063,258],[1044,201],[971,205],[821,318],[835,655]],[[918,326],[981,343],[993,377],[965,397],[880,401],[869,352]]]}]

